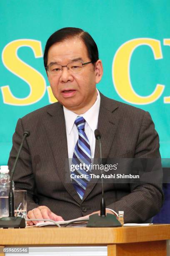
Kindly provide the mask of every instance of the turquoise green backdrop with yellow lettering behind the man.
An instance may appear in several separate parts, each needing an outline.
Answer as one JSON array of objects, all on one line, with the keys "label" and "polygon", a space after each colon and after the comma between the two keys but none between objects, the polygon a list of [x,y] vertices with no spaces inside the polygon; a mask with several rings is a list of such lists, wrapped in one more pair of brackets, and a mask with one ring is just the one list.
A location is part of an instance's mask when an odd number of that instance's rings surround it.
[{"label": "turquoise green backdrop with yellow lettering behind the man", "polygon": [[1,0],[0,164],[18,118],[53,101],[42,54],[50,34],[67,26],[95,39],[104,66],[97,88],[149,111],[169,158],[169,0]]}]

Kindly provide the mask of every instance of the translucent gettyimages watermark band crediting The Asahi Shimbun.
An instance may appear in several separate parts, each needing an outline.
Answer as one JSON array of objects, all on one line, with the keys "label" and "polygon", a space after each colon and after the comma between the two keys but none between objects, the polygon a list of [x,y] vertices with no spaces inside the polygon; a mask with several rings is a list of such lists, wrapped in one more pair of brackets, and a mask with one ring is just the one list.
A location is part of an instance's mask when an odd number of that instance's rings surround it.
[{"label": "translucent gettyimages watermark band crediting The Asahi Shimbun", "polygon": [[[168,159],[170,162],[170,160]],[[166,172],[165,183],[170,183]],[[65,182],[79,182],[86,179],[90,183],[162,183],[163,169],[161,159],[146,158],[103,158],[67,159],[65,162]],[[81,181],[80,181],[81,182]],[[85,181],[86,182],[86,181]]]}]

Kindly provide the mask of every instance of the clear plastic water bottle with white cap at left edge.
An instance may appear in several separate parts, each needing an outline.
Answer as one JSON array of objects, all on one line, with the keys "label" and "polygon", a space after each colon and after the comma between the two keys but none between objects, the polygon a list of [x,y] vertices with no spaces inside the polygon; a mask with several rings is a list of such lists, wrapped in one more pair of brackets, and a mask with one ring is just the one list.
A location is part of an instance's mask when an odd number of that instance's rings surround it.
[{"label": "clear plastic water bottle with white cap at left edge", "polygon": [[[9,216],[10,175],[6,165],[0,166],[0,218]],[[14,182],[13,182],[14,192]]]}]

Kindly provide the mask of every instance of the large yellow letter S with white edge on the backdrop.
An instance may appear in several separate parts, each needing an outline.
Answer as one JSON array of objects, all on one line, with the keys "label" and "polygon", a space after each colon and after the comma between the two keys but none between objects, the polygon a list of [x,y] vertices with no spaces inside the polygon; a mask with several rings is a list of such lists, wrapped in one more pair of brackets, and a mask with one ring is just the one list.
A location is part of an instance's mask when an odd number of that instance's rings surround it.
[{"label": "large yellow letter S with white edge on the backdrop", "polygon": [[30,47],[34,52],[35,58],[42,57],[41,42],[37,40],[19,39],[5,46],[2,51],[3,64],[10,72],[23,79],[30,87],[30,94],[25,98],[15,97],[8,85],[1,87],[5,104],[30,105],[39,101],[45,94],[46,83],[42,74],[19,59],[17,55],[18,49],[23,46]]}]

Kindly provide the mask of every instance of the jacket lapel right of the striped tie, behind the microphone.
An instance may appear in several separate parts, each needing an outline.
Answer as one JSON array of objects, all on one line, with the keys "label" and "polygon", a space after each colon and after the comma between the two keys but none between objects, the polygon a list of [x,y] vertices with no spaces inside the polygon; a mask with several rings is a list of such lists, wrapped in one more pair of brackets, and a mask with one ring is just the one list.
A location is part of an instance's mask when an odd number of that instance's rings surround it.
[{"label": "jacket lapel right of the striped tie, behind the microphone", "polygon": [[[117,131],[117,127],[119,125],[120,118],[117,117],[116,110],[117,105],[115,101],[108,99],[104,95],[100,93],[100,111],[98,117],[98,124],[97,129],[100,131],[101,134],[101,143],[102,143],[102,158],[107,159],[110,148],[112,146],[113,140],[115,138],[115,134]],[[95,144],[95,159],[94,164],[100,164],[97,161],[100,159],[100,148],[99,142],[96,141]],[[100,174],[100,170],[94,170],[94,174]],[[95,187],[98,179],[91,179],[90,183],[87,185],[85,190],[84,197],[82,202],[86,199],[86,197],[90,194],[92,189]]]}]

